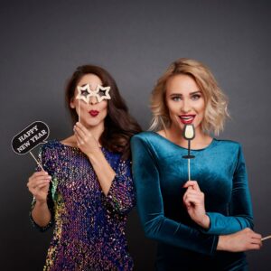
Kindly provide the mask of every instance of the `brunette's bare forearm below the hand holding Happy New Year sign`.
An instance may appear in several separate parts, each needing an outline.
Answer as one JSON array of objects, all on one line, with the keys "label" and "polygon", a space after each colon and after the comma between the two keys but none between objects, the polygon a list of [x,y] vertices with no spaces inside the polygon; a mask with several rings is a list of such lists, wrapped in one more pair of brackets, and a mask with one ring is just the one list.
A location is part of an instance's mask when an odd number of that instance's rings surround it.
[{"label": "brunette's bare forearm below the hand holding Happy New Year sign", "polygon": [[34,222],[40,227],[45,227],[51,221],[51,211],[47,202],[36,201],[31,212]]}]

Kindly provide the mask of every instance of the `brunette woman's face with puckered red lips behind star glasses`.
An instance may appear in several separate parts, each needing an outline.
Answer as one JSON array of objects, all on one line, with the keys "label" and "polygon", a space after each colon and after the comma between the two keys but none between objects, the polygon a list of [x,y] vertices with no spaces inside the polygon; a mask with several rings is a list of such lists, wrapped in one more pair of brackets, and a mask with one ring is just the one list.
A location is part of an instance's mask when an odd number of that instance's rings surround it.
[{"label": "brunette woman's face with puckered red lips behind star glasses", "polygon": [[[97,85],[102,86],[103,83],[97,75],[89,73],[79,80],[77,87],[83,87],[87,84],[89,84],[90,89],[95,90]],[[78,93],[79,91],[76,88],[74,97],[70,101],[70,107],[76,109],[80,123],[86,127],[103,126],[107,117],[107,100],[103,99],[98,102],[96,97],[90,97],[87,104],[83,99],[76,98]]]}]

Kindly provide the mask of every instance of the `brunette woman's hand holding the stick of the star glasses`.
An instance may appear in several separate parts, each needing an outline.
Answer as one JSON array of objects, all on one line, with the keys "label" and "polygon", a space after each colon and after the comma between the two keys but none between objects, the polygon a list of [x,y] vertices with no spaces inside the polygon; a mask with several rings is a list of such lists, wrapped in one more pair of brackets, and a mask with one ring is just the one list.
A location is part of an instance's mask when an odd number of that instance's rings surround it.
[{"label": "brunette woman's hand holding the stick of the star glasses", "polygon": [[74,135],[79,149],[86,155],[99,151],[98,141],[81,123],[77,122],[73,127]]}]

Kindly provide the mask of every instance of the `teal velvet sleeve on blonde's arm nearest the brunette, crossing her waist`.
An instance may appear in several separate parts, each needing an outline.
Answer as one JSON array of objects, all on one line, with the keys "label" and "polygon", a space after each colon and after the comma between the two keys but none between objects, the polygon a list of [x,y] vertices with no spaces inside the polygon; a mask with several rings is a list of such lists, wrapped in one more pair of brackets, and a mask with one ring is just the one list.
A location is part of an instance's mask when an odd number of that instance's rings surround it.
[{"label": "teal velvet sleeve on blonde's arm nearest the brunette, crossing her waist", "polygon": [[148,142],[132,138],[133,176],[139,217],[145,236],[205,255],[215,253],[218,236],[208,235],[164,216],[159,166]]}]

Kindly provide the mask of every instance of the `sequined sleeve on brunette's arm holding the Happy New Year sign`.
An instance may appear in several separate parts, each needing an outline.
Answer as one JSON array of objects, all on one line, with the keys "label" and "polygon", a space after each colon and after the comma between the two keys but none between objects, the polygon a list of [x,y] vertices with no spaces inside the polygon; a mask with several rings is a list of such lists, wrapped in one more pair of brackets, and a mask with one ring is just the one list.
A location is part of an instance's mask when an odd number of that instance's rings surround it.
[{"label": "sequined sleeve on brunette's arm holding the Happy New Year sign", "polygon": [[[50,160],[51,159],[51,160]],[[38,154],[38,161],[40,164],[42,164],[42,167],[44,169],[45,172],[49,173],[51,176],[53,176],[53,167],[54,167],[54,155],[51,154],[51,150],[49,148],[47,148],[45,145],[42,146],[42,148],[39,151]],[[35,171],[41,171],[40,166],[37,166]],[[33,201],[32,201],[32,205],[31,205],[31,210],[30,210],[30,220],[33,224],[33,227],[35,229],[38,229],[39,231],[46,231],[47,229],[50,229],[51,226],[54,223],[54,210],[53,210],[53,201],[52,201],[52,195],[51,195],[51,182],[50,182],[50,187],[49,187],[49,191],[48,191],[48,195],[47,195],[47,205],[48,205],[48,209],[51,212],[51,220],[49,221],[49,223],[44,226],[41,227],[39,226],[34,220],[33,220],[33,216],[32,216],[32,210],[35,206],[36,200],[33,197]]]}]

